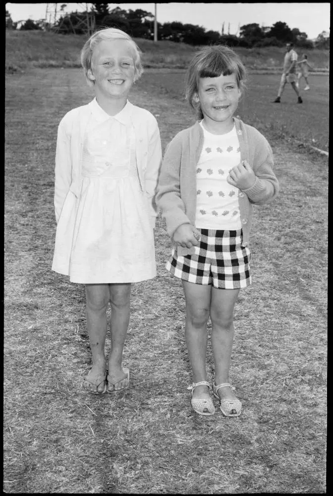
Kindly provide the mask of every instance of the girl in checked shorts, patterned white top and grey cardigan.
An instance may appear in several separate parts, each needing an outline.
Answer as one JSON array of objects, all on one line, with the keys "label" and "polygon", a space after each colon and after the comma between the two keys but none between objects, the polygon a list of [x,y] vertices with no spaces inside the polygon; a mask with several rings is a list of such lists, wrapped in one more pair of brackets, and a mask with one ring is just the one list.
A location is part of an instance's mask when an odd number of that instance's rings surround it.
[{"label": "girl in checked shorts, patterned white top and grey cardigan", "polygon": [[186,93],[198,120],[167,146],[158,186],[173,245],[166,268],[181,279],[185,295],[191,405],[200,415],[215,412],[206,374],[209,317],[213,393],[223,415],[241,414],[229,381],[233,311],[240,289],[251,284],[252,205],[272,201],[278,192],[269,143],[234,117],[244,80],[244,65],[230,48],[206,47],[194,56]]}]

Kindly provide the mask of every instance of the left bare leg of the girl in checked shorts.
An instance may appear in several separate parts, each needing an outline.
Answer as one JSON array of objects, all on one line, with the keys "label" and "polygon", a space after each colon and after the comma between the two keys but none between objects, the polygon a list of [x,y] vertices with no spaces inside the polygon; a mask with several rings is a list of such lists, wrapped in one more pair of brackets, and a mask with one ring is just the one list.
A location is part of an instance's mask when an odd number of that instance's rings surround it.
[{"label": "left bare leg of the girl in checked shorts", "polygon": [[[182,281],[186,302],[185,339],[192,369],[192,381],[207,380],[207,321],[211,300],[211,285]],[[200,385],[193,391],[193,398],[209,399],[209,389]]]}]

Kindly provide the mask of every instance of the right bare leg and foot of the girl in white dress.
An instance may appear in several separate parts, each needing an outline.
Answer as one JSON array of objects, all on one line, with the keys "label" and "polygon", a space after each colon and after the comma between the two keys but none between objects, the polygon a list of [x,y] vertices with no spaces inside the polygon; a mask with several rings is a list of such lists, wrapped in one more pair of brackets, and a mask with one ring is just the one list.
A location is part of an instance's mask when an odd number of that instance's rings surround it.
[{"label": "right bare leg and foot of the girl in white dress", "polygon": [[[109,284],[111,303],[111,351],[109,354],[110,377],[122,377],[122,353],[129,323],[131,284]],[[114,385],[109,380],[109,391],[123,389],[127,378],[121,378]]]}]

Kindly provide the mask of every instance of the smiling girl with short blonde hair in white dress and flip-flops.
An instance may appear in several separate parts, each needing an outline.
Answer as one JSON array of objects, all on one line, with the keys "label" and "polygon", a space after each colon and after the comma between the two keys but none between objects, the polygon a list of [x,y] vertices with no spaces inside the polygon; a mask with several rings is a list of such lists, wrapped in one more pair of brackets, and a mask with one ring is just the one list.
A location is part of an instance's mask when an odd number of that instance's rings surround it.
[{"label": "smiling girl with short blonde hair in white dress and flip-flops", "polygon": [[143,72],[131,37],[115,28],[97,31],[81,62],[95,98],[58,126],[52,269],[85,285],[92,368],[83,386],[101,394],[129,387],[122,354],[131,284],[156,275],[153,230],[162,154],[155,117],[127,99]]}]

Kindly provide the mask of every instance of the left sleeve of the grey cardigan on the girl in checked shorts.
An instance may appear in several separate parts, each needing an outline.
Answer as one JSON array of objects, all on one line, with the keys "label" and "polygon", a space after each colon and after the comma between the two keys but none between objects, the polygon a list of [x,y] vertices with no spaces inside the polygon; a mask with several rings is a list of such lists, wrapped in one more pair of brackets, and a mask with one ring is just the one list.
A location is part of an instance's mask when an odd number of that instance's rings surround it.
[{"label": "left sleeve of the grey cardigan on the girl in checked shorts", "polygon": [[166,147],[156,195],[156,202],[166,221],[166,230],[170,237],[182,224],[190,224],[180,195],[181,155],[182,141],[176,135]]}]

